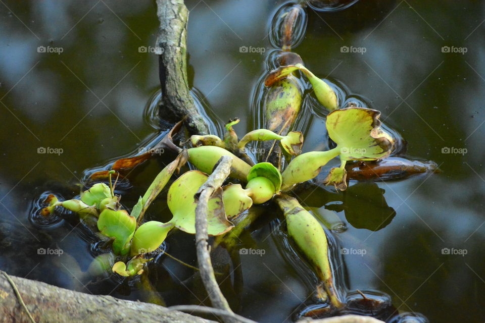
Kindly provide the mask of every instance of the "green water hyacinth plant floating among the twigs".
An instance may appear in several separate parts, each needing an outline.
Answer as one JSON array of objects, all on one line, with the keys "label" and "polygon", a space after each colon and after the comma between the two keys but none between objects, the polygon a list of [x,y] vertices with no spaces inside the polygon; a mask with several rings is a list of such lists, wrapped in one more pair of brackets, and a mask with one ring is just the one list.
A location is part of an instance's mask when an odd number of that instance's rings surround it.
[{"label": "green water hyacinth plant floating among the twigs", "polygon": [[[94,184],[81,194],[80,200],[59,201],[51,196],[44,208],[43,213],[54,211],[56,206],[68,208],[80,214],[81,217],[93,216],[97,219],[100,233],[109,238],[115,255],[122,257],[112,270],[121,276],[132,276],[143,271],[144,263],[149,259],[143,258],[143,254],[157,250],[166,239],[168,233],[177,228],[189,234],[195,233],[195,210],[196,201],[194,195],[207,180],[218,160],[223,155],[233,158],[230,178],[240,183],[228,183],[222,189],[216,191],[209,201],[208,232],[209,235],[217,236],[231,230],[233,225],[229,219],[234,219],[245,212],[253,204],[261,204],[270,201],[275,195],[280,196],[284,191],[290,190],[295,184],[305,182],[316,177],[321,168],[329,160],[340,156],[342,165],[334,168],[328,175],[328,184],[337,188],[345,188],[347,160],[374,160],[390,154],[393,147],[392,137],[380,128],[378,121],[379,112],[364,108],[348,108],[331,112],[326,121],[326,127],[330,138],[337,144],[328,151],[312,151],[301,154],[303,134],[299,131],[291,131],[285,136],[278,135],[267,129],[258,129],[249,132],[240,140],[237,139],[232,129],[233,122],[226,127],[225,139],[215,135],[192,136],[190,142],[193,146],[188,149],[180,149],[177,158],[165,167],[155,178],[146,193],[139,198],[131,213],[120,209],[119,196],[113,193],[113,187],[104,183]],[[229,139],[228,139],[229,138]],[[280,147],[288,155],[296,156],[285,170],[281,173],[270,163],[258,163],[251,167],[239,156],[245,154],[245,146],[250,141],[277,140]],[[232,144],[231,144],[232,142]],[[173,214],[172,220],[167,223],[149,221],[142,223],[143,214],[147,208],[163,190],[172,175],[179,171],[186,163],[191,163],[199,170],[188,171],[176,179],[168,189],[167,204]],[[114,172],[114,171],[111,171]],[[109,182],[111,183],[111,174]],[[287,213],[287,199],[277,199],[278,205]],[[292,200],[292,205],[299,205],[298,201]],[[305,218],[310,219],[310,213],[304,213],[306,217],[299,216],[295,222],[287,217],[290,236],[297,238],[298,246],[310,258],[321,263],[326,256],[316,255],[310,250],[313,247],[304,247]],[[312,218],[313,219],[313,218]],[[312,222],[312,227],[315,226]],[[299,229],[293,228],[292,223],[298,223]],[[302,231],[303,230],[303,231]],[[305,233],[306,232],[306,233]],[[323,231],[319,231],[319,240],[325,241]],[[302,238],[303,240],[300,240]],[[322,245],[325,246],[325,243]],[[326,250],[326,247],[324,248]],[[315,260],[316,259],[316,260]],[[323,265],[319,265],[323,267]],[[320,270],[322,273],[325,271]],[[323,274],[322,274],[323,275]],[[321,276],[329,286],[328,275]],[[330,293],[333,289],[328,288]],[[336,303],[336,298],[329,295],[329,299]]]}]

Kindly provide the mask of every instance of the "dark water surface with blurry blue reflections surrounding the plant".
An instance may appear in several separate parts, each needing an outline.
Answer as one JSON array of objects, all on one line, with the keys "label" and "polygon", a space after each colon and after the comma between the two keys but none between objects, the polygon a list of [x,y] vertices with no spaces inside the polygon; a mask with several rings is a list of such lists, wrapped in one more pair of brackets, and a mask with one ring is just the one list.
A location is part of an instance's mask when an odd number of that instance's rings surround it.
[{"label": "dark water surface with blurry blue reflections surrounding the plant", "polygon": [[[241,118],[240,134],[254,125],[255,87],[275,49],[269,27],[283,3],[186,2],[190,85],[216,123]],[[155,42],[155,12],[152,1],[0,4],[2,270],[86,293],[147,299],[137,280],[86,273],[99,247],[73,217],[59,214],[45,223],[32,209],[46,191],[64,198],[79,194],[86,169],[155,136],[158,124],[145,109],[159,88],[158,59],[138,50]],[[351,183],[346,193],[319,188],[299,196],[321,212],[325,206],[337,210],[346,224],[333,236],[338,248],[350,250],[338,253],[347,288],[386,293],[400,311],[422,313],[431,322],[483,321],[485,5],[362,0],[340,12],[307,12],[305,38],[295,48],[306,66],[380,110],[385,124],[408,141],[409,155],[434,160],[443,170],[399,182]],[[39,46],[52,52],[38,52]],[[265,52],[240,52],[240,46]],[[322,147],[324,123],[305,113],[305,150]],[[51,153],[38,153],[40,147]],[[136,171],[130,187],[119,192],[122,202],[132,206],[168,160],[162,156]],[[253,231],[241,236],[241,247],[265,254],[241,255],[222,288],[240,314],[261,322],[289,320],[302,303],[312,304],[314,278],[287,253],[284,233],[273,230],[281,217],[261,211]],[[170,218],[163,198],[148,217]],[[167,246],[195,264],[192,236],[176,232]],[[38,248],[63,254],[38,254]],[[163,256],[156,263],[150,278],[168,305],[208,304],[191,270]]]}]

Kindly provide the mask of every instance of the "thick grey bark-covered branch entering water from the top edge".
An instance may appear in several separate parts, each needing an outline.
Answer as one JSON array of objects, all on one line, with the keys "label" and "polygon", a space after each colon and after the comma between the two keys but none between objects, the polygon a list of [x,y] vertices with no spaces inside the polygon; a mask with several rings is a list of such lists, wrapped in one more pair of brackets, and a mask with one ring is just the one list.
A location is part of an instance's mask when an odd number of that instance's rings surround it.
[{"label": "thick grey bark-covered branch entering water from the top edge", "polygon": [[183,0],[157,0],[157,16],[156,53],[163,97],[160,115],[174,122],[185,118],[191,134],[208,134],[209,127],[197,110],[187,80],[187,7]]}]

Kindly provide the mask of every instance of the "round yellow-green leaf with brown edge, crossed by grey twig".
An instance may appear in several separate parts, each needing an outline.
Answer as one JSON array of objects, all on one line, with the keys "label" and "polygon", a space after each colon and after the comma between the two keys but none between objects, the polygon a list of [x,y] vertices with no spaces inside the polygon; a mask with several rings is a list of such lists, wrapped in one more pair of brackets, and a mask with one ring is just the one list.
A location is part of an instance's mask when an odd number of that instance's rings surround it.
[{"label": "round yellow-green leaf with brown edge, crossed by grey twig", "polygon": [[[210,147],[210,146],[204,146]],[[200,148],[204,148],[200,147]],[[215,147],[211,147],[215,148]],[[193,149],[193,148],[192,148]],[[196,148],[198,149],[198,148]],[[186,172],[180,176],[168,190],[167,204],[173,214],[172,223],[187,233],[196,233],[196,207],[194,195],[206,182],[209,176],[200,171]],[[232,223],[224,213],[222,189],[219,188],[209,200],[209,214],[207,216],[207,231],[210,236],[217,236],[231,230]]]}]

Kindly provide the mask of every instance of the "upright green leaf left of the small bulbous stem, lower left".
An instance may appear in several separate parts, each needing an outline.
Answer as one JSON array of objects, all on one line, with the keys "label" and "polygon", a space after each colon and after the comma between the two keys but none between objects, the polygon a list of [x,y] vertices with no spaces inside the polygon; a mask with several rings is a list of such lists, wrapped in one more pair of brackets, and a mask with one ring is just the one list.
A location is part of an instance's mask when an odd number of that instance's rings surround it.
[{"label": "upright green leaf left of the small bulbous stem, lower left", "polygon": [[129,251],[130,240],[136,228],[136,219],[126,210],[105,209],[98,219],[98,229],[105,236],[114,239],[115,254],[125,255]]}]

